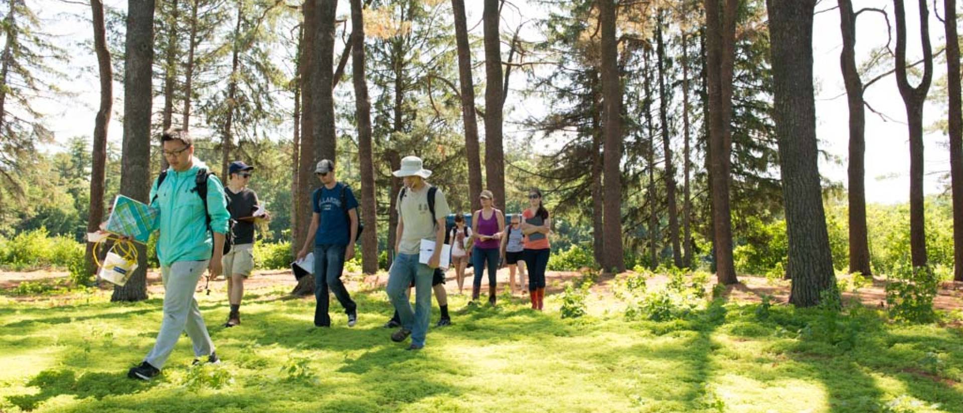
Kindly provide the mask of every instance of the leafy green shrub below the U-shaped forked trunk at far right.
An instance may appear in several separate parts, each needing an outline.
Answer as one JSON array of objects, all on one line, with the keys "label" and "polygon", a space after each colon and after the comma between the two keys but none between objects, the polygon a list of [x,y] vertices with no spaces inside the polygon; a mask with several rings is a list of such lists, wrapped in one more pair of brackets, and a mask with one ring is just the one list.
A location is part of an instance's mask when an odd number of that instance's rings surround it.
[{"label": "leafy green shrub below the U-shaped forked trunk at far right", "polygon": [[886,284],[886,303],[890,317],[908,323],[932,323],[936,321],[933,298],[939,290],[940,280],[929,267],[913,268],[901,264],[890,272]]}]

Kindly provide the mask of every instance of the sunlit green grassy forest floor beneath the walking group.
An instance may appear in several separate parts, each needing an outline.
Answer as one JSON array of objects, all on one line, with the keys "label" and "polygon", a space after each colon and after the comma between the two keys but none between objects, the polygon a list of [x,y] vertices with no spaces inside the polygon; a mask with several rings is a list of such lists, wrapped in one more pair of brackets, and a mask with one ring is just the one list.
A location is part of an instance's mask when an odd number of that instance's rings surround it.
[{"label": "sunlit green grassy forest floor beneath the walking group", "polygon": [[[220,325],[224,282],[212,281],[210,296],[198,286],[221,365],[192,367],[184,337],[163,374],[143,383],[125,374],[160,325],[156,274],[138,303],[110,303],[106,289],[13,294],[62,275],[0,273],[2,412],[963,412],[963,289],[952,283],[936,299],[949,315],[934,324],[887,322],[881,279],[847,293],[846,315],[834,317],[785,305],[785,281],[750,276],[654,322],[626,317],[627,274],[595,282],[586,316],[562,319],[562,291],[578,272],[549,274],[543,313],[508,294],[495,308],[467,306],[450,272],[454,325],[432,327],[412,352],[381,327],[392,311],[384,275],[348,277],[356,326],[332,299],[333,326],[318,329],[313,297],[288,296],[290,272],[262,271],[233,328]],[[651,277],[647,289],[667,279]]]}]

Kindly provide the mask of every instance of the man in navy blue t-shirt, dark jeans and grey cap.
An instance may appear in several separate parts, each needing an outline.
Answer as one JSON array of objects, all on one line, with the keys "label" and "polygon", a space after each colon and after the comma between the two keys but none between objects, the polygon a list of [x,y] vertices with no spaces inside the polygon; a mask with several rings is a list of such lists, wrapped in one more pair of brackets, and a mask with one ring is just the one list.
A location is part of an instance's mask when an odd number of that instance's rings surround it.
[{"label": "man in navy blue t-shirt, dark jeans and grey cap", "polygon": [[307,230],[307,239],[298,253],[298,259],[311,251],[314,240],[314,325],[331,326],[327,315],[327,291],[330,289],[348,314],[348,326],[357,323],[357,304],[341,282],[345,261],[354,257],[354,241],[358,234],[358,201],[351,187],[334,178],[334,163],[324,159],[315,168],[315,175],[322,186],[311,194],[314,215]]}]

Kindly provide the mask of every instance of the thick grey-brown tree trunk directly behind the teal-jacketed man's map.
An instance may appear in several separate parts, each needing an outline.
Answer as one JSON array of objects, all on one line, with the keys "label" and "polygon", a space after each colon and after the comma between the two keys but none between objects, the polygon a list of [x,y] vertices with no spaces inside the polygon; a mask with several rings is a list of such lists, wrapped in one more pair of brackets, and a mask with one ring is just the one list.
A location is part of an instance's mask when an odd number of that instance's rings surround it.
[{"label": "thick grey-brown tree trunk directly behind the teal-jacketed man's map", "polygon": [[[147,202],[150,192],[151,77],[154,60],[154,1],[127,2],[126,61],[124,63],[123,144],[120,194]],[[138,269],[127,283],[114,288],[111,301],[147,298],[147,251],[138,244]]]}]

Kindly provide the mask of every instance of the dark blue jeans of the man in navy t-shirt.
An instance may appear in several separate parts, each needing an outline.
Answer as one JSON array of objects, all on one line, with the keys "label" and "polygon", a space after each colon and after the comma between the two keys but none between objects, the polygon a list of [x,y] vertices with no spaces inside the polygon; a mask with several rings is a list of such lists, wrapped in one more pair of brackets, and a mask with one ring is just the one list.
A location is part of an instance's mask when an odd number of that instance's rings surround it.
[{"label": "dark blue jeans of the man in navy t-shirt", "polygon": [[345,268],[345,249],[347,245],[315,245],[314,246],[314,297],[317,305],[314,307],[314,324],[317,326],[331,325],[331,318],[327,315],[327,292],[334,293],[338,302],[345,307],[346,314],[355,314],[357,304],[351,300],[348,289],[341,282],[341,271]]}]

